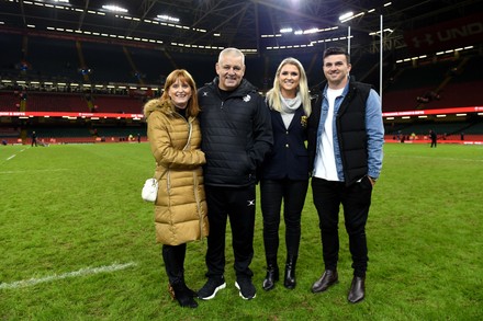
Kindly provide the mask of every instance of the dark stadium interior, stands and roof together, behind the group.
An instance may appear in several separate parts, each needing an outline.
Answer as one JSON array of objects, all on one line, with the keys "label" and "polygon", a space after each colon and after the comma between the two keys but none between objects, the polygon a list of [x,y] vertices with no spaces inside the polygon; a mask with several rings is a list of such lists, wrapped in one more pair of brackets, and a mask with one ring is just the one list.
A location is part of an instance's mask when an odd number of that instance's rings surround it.
[{"label": "dark stadium interior, stands and roof together, behind the group", "polygon": [[[78,141],[144,136],[145,124],[132,117],[1,112],[141,114],[172,69],[186,68],[201,85],[215,76],[220,50],[231,46],[245,51],[246,78],[261,92],[289,56],[315,85],[323,81],[322,51],[347,47],[349,35],[352,76],[382,89],[384,113],[480,107],[446,117],[384,117],[387,137],[431,128],[449,140],[462,131],[467,140],[483,137],[483,1],[115,1],[127,12],[110,12],[106,3],[0,1],[1,140],[27,142],[32,130]],[[355,18],[340,21],[348,11]]]}]

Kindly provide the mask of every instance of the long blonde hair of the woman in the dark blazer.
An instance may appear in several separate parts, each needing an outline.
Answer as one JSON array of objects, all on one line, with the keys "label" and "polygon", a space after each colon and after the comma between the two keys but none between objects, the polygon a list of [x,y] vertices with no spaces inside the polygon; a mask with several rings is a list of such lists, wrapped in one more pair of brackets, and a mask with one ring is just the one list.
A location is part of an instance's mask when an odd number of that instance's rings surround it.
[{"label": "long blonde hair of the woman in the dark blazer", "polygon": [[293,65],[299,69],[299,73],[300,73],[299,92],[301,95],[305,116],[308,117],[312,113],[312,106],[311,106],[311,95],[308,93],[307,76],[305,74],[305,69],[302,66],[302,64],[297,59],[292,57],[283,59],[282,62],[280,62],[279,68],[277,69],[276,79],[273,80],[273,88],[267,92],[268,105],[270,106],[270,108],[279,113],[282,110],[282,103],[281,103],[282,93],[280,90],[279,79],[280,79],[280,70],[283,68],[283,66],[288,64]]}]

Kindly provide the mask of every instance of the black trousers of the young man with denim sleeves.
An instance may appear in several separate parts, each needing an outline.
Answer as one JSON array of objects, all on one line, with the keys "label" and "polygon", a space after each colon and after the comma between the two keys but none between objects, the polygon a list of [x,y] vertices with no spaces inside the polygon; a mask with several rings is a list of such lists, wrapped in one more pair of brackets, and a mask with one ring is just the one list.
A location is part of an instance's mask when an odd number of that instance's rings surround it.
[{"label": "black trousers of the young man with denim sleeves", "polygon": [[344,182],[312,179],[314,205],[318,213],[323,255],[326,270],[336,270],[339,253],[339,206],[344,207],[353,275],[364,276],[368,267],[366,222],[371,205],[372,185],[366,176],[346,186]]}]

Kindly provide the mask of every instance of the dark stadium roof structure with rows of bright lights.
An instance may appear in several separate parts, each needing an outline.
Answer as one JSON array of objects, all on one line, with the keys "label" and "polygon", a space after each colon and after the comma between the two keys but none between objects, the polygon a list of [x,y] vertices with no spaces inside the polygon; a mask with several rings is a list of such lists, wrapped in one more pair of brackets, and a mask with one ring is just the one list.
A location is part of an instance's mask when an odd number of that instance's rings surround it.
[{"label": "dark stadium roof structure with rows of bright lights", "polygon": [[[352,50],[377,51],[382,16],[384,50],[405,50],[408,46],[407,33],[429,26],[440,30],[438,25],[457,20],[462,22],[451,26],[457,31],[456,37],[461,38],[462,33],[476,33],[476,37],[472,34],[472,39],[463,43],[480,42],[483,32],[474,23],[480,21],[481,25],[483,20],[482,2],[1,0],[0,32],[98,37],[110,42],[157,46],[166,50],[196,53],[212,53],[213,49],[233,46],[248,54],[346,46],[350,38]],[[340,15],[346,12],[352,12],[353,15],[341,21]],[[418,36],[425,41],[424,35]],[[416,37],[416,45],[417,42]]]}]

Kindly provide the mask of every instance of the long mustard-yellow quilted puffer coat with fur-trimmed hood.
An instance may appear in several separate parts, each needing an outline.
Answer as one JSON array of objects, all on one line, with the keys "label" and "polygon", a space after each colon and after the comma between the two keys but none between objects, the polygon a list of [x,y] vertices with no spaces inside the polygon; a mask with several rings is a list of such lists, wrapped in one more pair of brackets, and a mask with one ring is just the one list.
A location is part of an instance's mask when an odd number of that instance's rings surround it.
[{"label": "long mustard-yellow quilted puffer coat with fur-trimmed hood", "polygon": [[178,245],[200,240],[209,233],[200,123],[195,117],[187,121],[169,101],[147,102],[144,115],[159,183],[156,241]]}]

